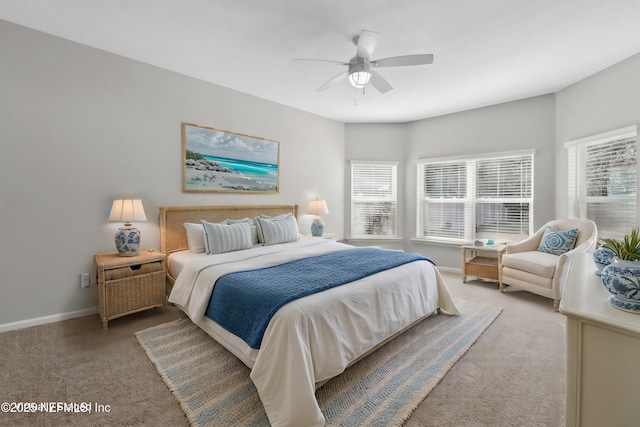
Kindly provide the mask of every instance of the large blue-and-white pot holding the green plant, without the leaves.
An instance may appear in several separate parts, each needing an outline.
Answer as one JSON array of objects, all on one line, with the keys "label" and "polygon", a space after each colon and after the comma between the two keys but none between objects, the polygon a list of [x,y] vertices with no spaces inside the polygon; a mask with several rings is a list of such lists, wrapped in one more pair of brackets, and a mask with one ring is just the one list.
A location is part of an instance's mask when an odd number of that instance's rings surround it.
[{"label": "large blue-and-white pot holding the green plant, without the leaves", "polygon": [[609,304],[640,313],[640,263],[616,259],[602,270],[602,284],[612,294]]}]

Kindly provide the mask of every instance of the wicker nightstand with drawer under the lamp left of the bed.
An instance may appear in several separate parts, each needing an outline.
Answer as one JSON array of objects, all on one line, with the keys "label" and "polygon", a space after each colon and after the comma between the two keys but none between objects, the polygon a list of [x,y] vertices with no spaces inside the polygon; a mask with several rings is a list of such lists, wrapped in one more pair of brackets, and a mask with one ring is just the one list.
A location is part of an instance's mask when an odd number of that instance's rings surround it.
[{"label": "wicker nightstand with drawer under the lamp left of the bed", "polygon": [[109,320],[160,307],[164,312],[166,260],[161,252],[140,251],[133,257],[116,252],[96,254],[98,312],[102,329]]}]

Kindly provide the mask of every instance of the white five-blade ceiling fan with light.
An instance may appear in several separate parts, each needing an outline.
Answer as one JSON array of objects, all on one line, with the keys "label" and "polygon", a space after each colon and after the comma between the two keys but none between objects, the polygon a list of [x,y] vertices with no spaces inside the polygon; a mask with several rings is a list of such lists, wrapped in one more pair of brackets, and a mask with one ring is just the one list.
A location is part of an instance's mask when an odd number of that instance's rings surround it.
[{"label": "white five-blade ceiling fan with light", "polygon": [[373,71],[378,67],[406,67],[409,65],[427,65],[433,63],[433,54],[404,55],[393,56],[390,58],[371,60],[371,54],[378,43],[380,34],[375,31],[362,30],[359,36],[353,38],[353,44],[356,45],[356,56],[351,58],[349,62],[330,61],[324,59],[294,59],[293,62],[314,62],[326,63],[340,66],[347,66],[344,71],[327,83],[320,86],[317,91],[327,90],[330,86],[344,77],[348,77],[349,83],[355,88],[364,88],[367,84],[376,88],[380,93],[389,92],[393,87],[380,74]]}]

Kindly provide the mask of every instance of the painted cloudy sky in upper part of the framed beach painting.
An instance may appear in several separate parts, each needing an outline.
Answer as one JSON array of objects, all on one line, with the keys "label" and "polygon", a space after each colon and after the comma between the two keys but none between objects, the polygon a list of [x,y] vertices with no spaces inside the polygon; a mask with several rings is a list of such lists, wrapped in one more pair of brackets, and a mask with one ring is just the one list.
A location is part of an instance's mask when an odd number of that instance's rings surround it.
[{"label": "painted cloudy sky in upper part of the framed beach painting", "polygon": [[187,150],[209,156],[277,164],[278,143],[186,125]]}]

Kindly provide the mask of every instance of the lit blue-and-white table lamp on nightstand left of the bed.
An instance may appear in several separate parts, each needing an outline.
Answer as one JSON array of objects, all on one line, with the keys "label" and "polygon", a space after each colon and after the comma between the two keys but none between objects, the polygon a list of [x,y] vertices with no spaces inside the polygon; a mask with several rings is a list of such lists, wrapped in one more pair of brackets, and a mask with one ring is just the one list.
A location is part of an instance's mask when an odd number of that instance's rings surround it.
[{"label": "lit blue-and-white table lamp on nightstand left of the bed", "polygon": [[132,221],[146,221],[142,200],[118,199],[113,201],[109,221],[124,222],[116,231],[116,249],[120,256],[136,256],[140,247],[140,230]]}]

